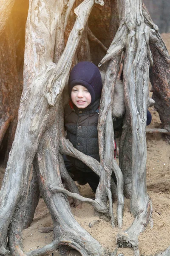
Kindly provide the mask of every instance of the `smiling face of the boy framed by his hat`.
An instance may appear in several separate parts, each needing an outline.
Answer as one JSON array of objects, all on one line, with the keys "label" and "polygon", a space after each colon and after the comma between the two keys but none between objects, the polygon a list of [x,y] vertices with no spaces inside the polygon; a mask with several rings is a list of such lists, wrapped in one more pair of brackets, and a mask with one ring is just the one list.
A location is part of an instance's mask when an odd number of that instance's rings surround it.
[{"label": "smiling face of the boy framed by his hat", "polygon": [[82,85],[75,85],[71,91],[71,100],[77,108],[86,108],[91,104],[91,94]]}]

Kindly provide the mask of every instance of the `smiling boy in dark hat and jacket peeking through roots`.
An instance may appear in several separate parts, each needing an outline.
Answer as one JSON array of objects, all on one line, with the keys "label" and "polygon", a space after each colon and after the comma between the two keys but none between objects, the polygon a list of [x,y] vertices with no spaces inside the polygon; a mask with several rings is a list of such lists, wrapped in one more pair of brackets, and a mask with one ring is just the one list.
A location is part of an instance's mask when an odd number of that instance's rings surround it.
[{"label": "smiling boy in dark hat and jacket peeking through roots", "polygon": [[[71,99],[65,107],[67,139],[82,153],[100,161],[97,123],[102,78],[98,67],[88,61],[79,62],[71,70],[68,94]],[[150,121],[151,122],[151,121]],[[113,121],[114,129],[122,127],[122,119]],[[80,185],[88,183],[96,192],[99,176],[80,160],[64,156],[65,167]],[[114,174],[112,175],[114,180]]]}]

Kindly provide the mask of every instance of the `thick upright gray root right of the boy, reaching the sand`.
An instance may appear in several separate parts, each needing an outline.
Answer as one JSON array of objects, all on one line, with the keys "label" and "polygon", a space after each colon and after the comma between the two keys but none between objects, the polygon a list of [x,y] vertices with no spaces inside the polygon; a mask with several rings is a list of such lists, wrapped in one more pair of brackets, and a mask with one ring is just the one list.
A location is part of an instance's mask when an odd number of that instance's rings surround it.
[{"label": "thick upright gray root right of the boy, reaching the sand", "polygon": [[[131,5],[136,5],[133,11]],[[134,248],[139,255],[138,235],[151,218],[152,205],[146,190],[146,114],[148,106],[149,65],[153,64],[149,48],[150,29],[144,23],[142,1],[125,0],[125,16],[101,64],[125,51],[124,84],[126,114],[119,148],[120,168],[124,175],[125,194],[130,197],[130,211],[136,217],[117,243]],[[129,30],[129,33],[127,31]],[[124,38],[122,38],[122,34]],[[122,41],[121,41],[122,39]],[[121,44],[117,42],[121,41]],[[139,185],[140,184],[140,185]]]}]

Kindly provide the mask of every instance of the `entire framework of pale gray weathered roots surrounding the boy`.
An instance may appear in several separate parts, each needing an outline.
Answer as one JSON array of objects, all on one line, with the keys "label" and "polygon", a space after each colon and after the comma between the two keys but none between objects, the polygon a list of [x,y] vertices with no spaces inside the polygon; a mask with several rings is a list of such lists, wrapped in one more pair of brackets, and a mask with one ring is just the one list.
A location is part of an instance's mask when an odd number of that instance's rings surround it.
[{"label": "entire framework of pale gray weathered roots surrounding the boy", "polygon": [[[104,4],[102,0],[96,2]],[[8,0],[6,3],[14,1]],[[111,174],[115,172],[119,227],[122,227],[124,203],[123,176],[125,194],[131,199],[130,210],[135,216],[133,224],[117,236],[117,244],[133,247],[135,255],[139,256],[138,235],[151,221],[152,214],[152,204],[146,191],[146,119],[147,107],[153,104],[148,96],[149,67],[153,65],[149,42],[159,53],[161,63],[165,58],[164,67],[169,67],[170,58],[157,33],[157,26],[142,6],[142,0],[125,0],[121,3],[119,16],[122,16],[122,20],[119,29],[99,64],[100,66],[111,60],[103,86],[99,113],[99,163],[76,150],[65,139],[63,116],[61,117],[62,91],[94,0],[83,1],[74,10],[77,19],[65,49],[64,30],[74,0],[69,1],[67,10],[62,0],[49,0],[48,4],[44,0],[30,0],[26,29],[24,90],[17,131],[0,191],[0,255],[11,253],[14,256],[42,256],[47,251],[51,253],[54,249],[66,245],[77,250],[82,256],[106,256],[99,242],[74,219],[66,195],[72,196],[76,204],[78,200],[85,201],[93,205],[97,211],[110,215],[114,226]],[[93,35],[89,32],[89,36]],[[100,45],[105,49],[102,44]],[[113,159],[112,105],[120,56],[124,50],[126,114],[120,145],[121,172]],[[169,79],[168,76],[167,78]],[[165,87],[167,88],[166,83]],[[57,122],[56,118],[61,122]],[[169,119],[164,128],[170,131],[168,125]],[[99,175],[95,200],[83,198],[78,194],[77,187],[65,169],[61,154],[76,157]],[[28,177],[33,160],[38,187],[54,222],[54,241],[41,249],[25,253],[22,248],[23,218],[26,210]],[[69,191],[64,189],[62,180]],[[35,177],[31,183],[31,186],[33,185]],[[30,187],[27,207],[31,207],[30,198],[38,195],[38,187],[37,184],[34,189]],[[27,224],[33,217],[34,210],[35,205],[25,218]],[[7,236],[10,250],[6,248]],[[167,248],[163,255],[167,256],[169,251]]]}]

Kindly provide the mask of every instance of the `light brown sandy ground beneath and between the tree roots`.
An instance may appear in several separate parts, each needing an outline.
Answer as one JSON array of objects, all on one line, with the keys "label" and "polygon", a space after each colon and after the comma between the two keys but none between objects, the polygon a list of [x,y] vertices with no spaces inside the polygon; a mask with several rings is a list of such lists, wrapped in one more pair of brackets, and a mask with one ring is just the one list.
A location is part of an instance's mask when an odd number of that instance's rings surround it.
[{"label": "light brown sandy ground beneath and between the tree roots", "polygon": [[[170,52],[170,34],[163,34],[164,41]],[[154,107],[150,108],[153,120],[150,128],[160,128],[159,115]],[[0,184],[3,180],[4,169],[0,168]],[[85,197],[93,198],[94,193],[88,185],[79,186],[80,192]],[[160,134],[147,134],[147,191],[153,203],[153,228],[147,226],[144,233],[139,236],[139,249],[143,256],[155,255],[170,246],[170,145]],[[116,204],[113,205],[116,213]],[[130,214],[130,201],[125,199],[123,230],[130,226],[133,216]],[[71,207],[75,219],[84,227],[103,247],[114,251],[116,248],[116,235],[119,229],[112,228],[110,221],[101,218],[93,207],[83,204],[82,209]],[[96,220],[94,227],[89,223]],[[34,221],[26,230],[23,230],[23,247],[25,251],[40,248],[53,239],[53,232],[41,233],[43,227],[52,226],[51,215],[43,201],[34,215]],[[132,256],[130,248],[119,248],[117,253]],[[58,256],[58,251],[54,256]],[[78,256],[79,253],[70,251],[69,256]]]}]

